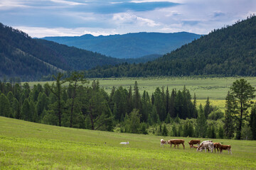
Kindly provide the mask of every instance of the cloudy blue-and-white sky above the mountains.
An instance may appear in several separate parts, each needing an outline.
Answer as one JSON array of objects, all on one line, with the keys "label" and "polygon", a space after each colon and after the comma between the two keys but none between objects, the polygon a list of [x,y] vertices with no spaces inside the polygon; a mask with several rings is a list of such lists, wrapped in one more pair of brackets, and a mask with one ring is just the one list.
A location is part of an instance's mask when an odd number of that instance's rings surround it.
[{"label": "cloudy blue-and-white sky above the mountains", "polygon": [[46,36],[208,34],[256,13],[256,0],[0,0],[0,23]]}]

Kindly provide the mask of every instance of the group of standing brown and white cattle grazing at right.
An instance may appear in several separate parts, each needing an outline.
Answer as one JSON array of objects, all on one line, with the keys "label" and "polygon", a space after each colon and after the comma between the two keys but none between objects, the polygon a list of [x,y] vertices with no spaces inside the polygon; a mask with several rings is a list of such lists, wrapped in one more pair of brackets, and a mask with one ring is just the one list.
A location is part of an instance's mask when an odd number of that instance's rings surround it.
[{"label": "group of standing brown and white cattle grazing at right", "polygon": [[[169,144],[170,147],[171,145],[174,145],[174,148],[176,148],[176,145],[177,145],[177,148],[179,148],[179,145],[183,145],[183,149],[185,149],[185,145],[184,145],[184,140],[163,140],[161,139],[160,140],[160,144],[161,144],[161,147],[164,147],[164,144]],[[232,154],[231,152],[231,146],[230,145],[221,145],[219,142],[213,142],[212,140],[205,140],[203,142],[201,142],[201,140],[191,140],[188,142],[190,148],[196,148],[196,151],[202,151],[203,149],[207,150],[208,149],[208,152],[213,152],[213,149],[214,149],[214,152],[216,152],[216,149],[217,151],[220,153],[223,152],[223,150],[228,150],[228,154]],[[197,145],[197,146],[194,146],[194,145]]]}]

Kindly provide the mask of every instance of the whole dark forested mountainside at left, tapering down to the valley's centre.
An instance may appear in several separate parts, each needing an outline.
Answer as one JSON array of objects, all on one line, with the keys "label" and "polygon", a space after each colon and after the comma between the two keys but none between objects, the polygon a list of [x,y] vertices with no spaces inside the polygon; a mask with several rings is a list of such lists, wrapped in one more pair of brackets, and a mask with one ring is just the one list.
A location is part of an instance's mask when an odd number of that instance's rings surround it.
[{"label": "whole dark forested mountainside at left, tapering down to the valley's centre", "polygon": [[55,72],[91,69],[125,61],[56,42],[33,39],[21,30],[0,23],[0,79],[21,77],[26,81],[39,80]]}]

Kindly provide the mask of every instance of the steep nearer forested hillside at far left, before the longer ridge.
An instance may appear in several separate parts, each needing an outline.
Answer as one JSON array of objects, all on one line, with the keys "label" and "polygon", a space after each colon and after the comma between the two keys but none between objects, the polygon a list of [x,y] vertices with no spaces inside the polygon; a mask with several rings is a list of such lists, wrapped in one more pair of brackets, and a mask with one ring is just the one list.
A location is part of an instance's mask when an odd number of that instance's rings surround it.
[{"label": "steep nearer forested hillside at far left, before the longer ridge", "polygon": [[0,77],[38,79],[70,69],[55,52],[39,45],[26,33],[0,23]]}]

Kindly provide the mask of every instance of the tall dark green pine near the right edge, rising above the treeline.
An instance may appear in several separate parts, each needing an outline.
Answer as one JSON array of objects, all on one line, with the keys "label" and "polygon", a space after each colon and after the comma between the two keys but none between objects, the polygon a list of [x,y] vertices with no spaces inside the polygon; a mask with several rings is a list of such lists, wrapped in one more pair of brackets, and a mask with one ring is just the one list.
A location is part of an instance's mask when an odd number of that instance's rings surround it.
[{"label": "tall dark green pine near the right edge, rising above the treeline", "polygon": [[[249,122],[252,139],[255,140],[255,106],[252,107],[252,98],[255,98],[255,88],[245,79],[239,79],[233,83],[226,97],[226,110],[224,120],[225,136],[242,139],[242,128],[247,128]],[[252,107],[250,116],[248,109]],[[247,139],[246,135],[245,139]]]}]

